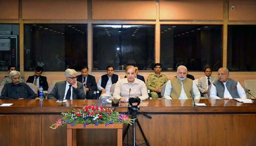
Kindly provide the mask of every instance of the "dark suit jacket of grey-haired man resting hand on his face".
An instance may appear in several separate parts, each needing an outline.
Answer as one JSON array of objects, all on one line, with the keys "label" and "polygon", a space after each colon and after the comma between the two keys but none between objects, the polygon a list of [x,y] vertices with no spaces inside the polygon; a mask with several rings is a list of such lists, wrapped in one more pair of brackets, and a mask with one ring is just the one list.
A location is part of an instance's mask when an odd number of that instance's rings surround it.
[{"label": "dark suit jacket of grey-haired man resting hand on his face", "polygon": [[[78,88],[73,88],[73,99],[85,99],[85,93],[83,90],[83,84],[77,82]],[[48,99],[63,99],[65,95],[66,81],[56,82],[52,92],[48,94]]]}]

